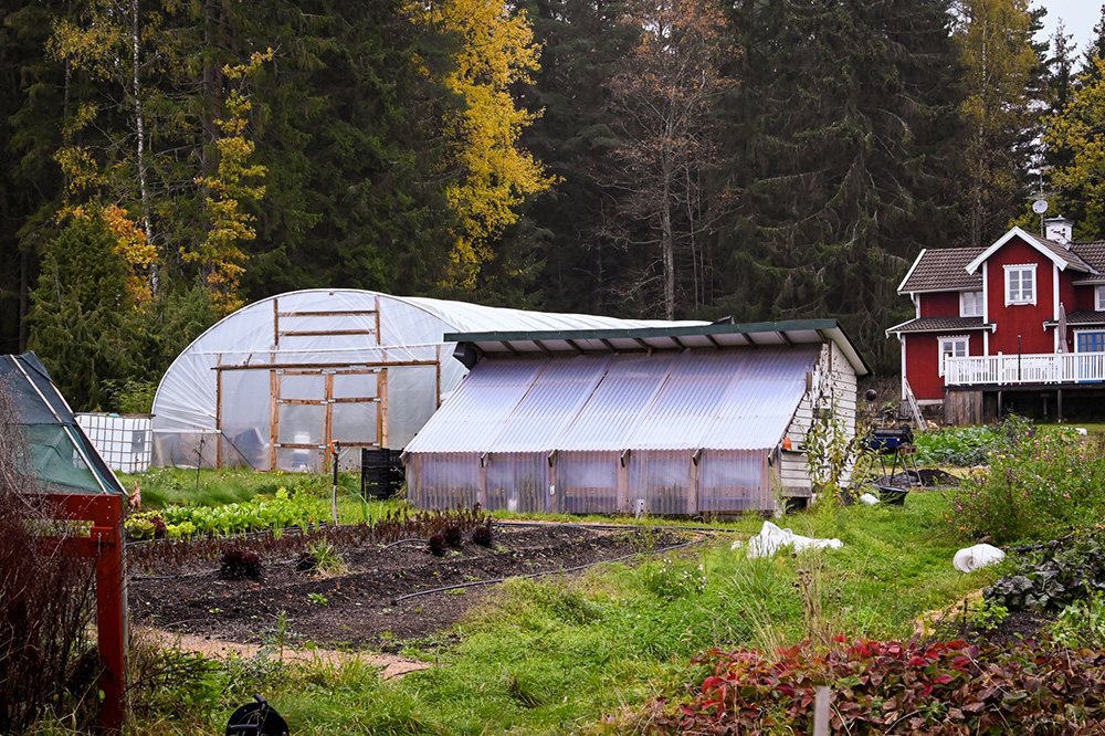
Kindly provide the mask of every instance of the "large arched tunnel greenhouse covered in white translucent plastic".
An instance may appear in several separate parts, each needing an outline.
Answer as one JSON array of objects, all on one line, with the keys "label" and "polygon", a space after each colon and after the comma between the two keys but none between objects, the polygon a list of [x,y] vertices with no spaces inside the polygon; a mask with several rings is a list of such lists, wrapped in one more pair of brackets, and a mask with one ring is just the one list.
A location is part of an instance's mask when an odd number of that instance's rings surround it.
[{"label": "large arched tunnel greenhouse covered in white translucent plastic", "polygon": [[154,464],[319,471],[333,443],[403,448],[467,369],[445,333],[672,324],[485,307],[356,290],[251,304],[173,361],[154,399]]}]

